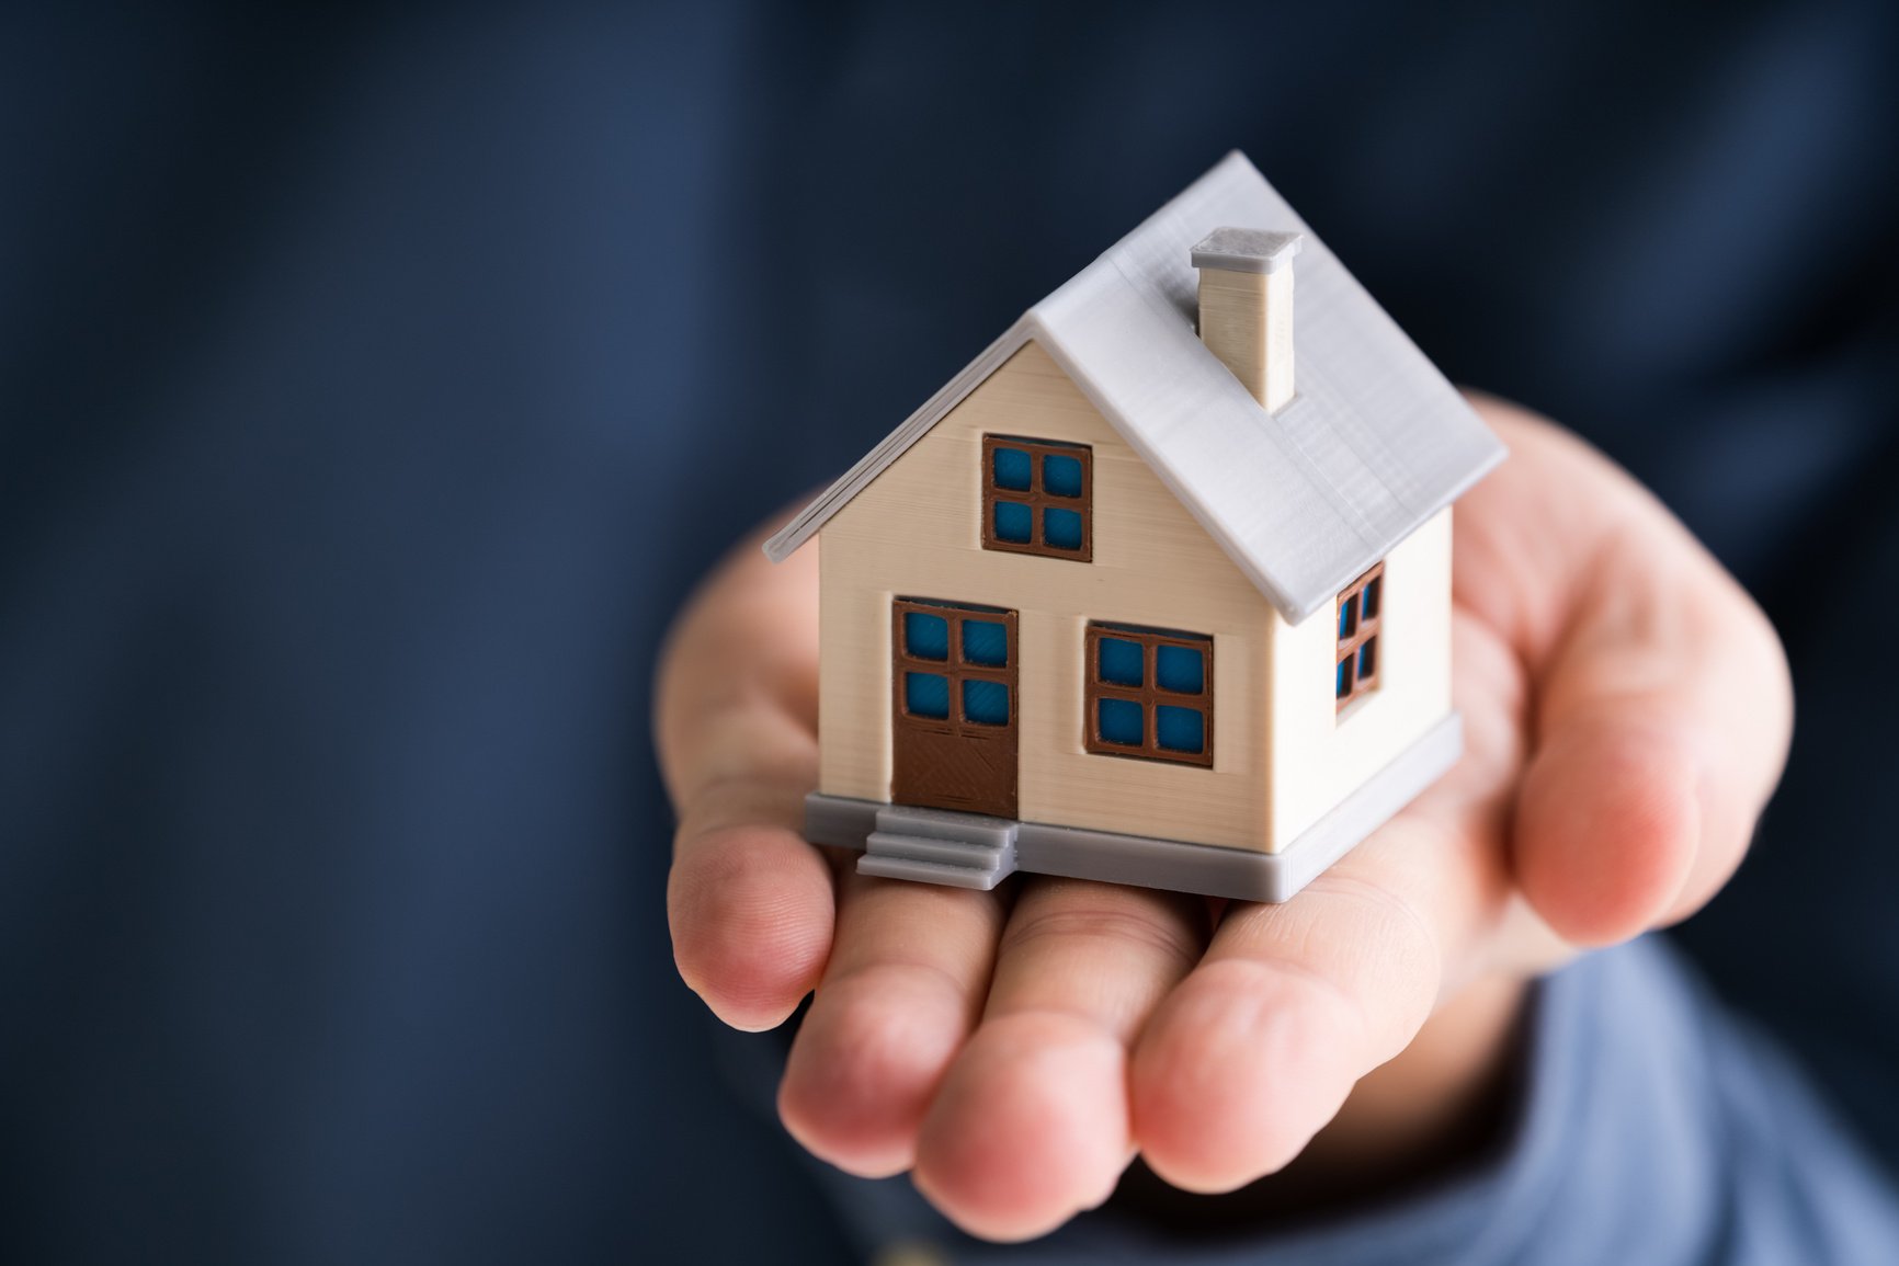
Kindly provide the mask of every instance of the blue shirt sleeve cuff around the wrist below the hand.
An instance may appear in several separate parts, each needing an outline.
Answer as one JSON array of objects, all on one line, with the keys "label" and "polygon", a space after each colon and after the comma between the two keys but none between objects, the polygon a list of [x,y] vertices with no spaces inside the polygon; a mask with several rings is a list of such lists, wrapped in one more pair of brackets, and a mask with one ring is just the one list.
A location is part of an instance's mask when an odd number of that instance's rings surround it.
[{"label": "blue shirt sleeve cuff around the wrist below the hand", "polygon": [[1582,959],[1531,1002],[1500,1148],[1430,1190],[1297,1230],[1193,1241],[1084,1215],[1033,1245],[961,1236],[906,1179],[824,1169],[866,1257],[955,1262],[1874,1262],[1899,1245],[1876,1164],[1760,1033],[1660,938]]}]

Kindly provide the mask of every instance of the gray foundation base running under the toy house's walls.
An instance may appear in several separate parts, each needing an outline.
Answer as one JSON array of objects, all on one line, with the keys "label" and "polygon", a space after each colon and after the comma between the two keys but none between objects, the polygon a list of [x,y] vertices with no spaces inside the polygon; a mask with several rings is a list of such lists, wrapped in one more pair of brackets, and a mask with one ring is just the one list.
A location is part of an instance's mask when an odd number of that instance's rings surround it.
[{"label": "gray foundation base running under the toy house's walls", "polygon": [[[1280,852],[1215,848],[1177,839],[1010,822],[980,814],[927,812],[963,818],[972,831],[1012,833],[1014,869],[1204,892],[1240,902],[1284,902],[1441,778],[1462,754],[1464,725],[1453,712]],[[870,835],[877,831],[879,810],[889,812],[891,805],[813,791],[805,797],[805,839],[862,852]],[[995,875],[989,883],[1003,875]],[[917,867],[904,877],[931,879],[931,873]]]}]

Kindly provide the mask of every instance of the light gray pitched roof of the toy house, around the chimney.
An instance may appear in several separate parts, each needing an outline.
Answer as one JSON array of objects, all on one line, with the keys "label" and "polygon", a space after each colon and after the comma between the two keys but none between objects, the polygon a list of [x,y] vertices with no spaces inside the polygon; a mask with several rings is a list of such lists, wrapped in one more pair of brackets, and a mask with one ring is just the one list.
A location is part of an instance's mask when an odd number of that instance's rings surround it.
[{"label": "light gray pitched roof of the toy house, around the chimney", "polygon": [[[1293,383],[1269,414],[1194,332],[1193,247],[1215,228],[1305,233]],[[1025,342],[1039,342],[1208,535],[1291,623],[1504,457],[1244,154],[1232,152],[1022,315],[765,543],[782,560]]]}]

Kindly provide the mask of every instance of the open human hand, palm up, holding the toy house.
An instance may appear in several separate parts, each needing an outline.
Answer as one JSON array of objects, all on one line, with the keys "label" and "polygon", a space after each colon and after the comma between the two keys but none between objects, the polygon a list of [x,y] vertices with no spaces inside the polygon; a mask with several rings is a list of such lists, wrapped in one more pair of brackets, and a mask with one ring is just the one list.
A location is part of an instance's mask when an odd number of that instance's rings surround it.
[{"label": "open human hand, palm up, holding the toy house", "polygon": [[1476,406],[1512,459],[1457,507],[1466,755],[1284,905],[1035,875],[965,892],[803,843],[817,558],[733,552],[659,670],[667,900],[725,1023],[817,991],[779,1097],[799,1143],[910,1169],[995,1239],[1103,1201],[1136,1154],[1221,1192],[1333,1122],[1314,1152],[1377,1171],[1481,1093],[1521,981],[1720,888],[1785,759],[1779,642],[1620,469]]}]

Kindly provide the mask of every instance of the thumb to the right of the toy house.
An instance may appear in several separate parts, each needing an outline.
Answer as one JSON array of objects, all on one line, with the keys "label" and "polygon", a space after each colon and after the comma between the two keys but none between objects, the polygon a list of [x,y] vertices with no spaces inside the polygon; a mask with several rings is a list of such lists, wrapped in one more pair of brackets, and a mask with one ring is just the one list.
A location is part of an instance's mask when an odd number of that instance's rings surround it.
[{"label": "thumb to the right of the toy house", "polygon": [[1534,698],[1517,883],[1559,936],[1612,943],[1694,913],[1739,866],[1785,763],[1793,687],[1766,617],[1660,501],[1493,408],[1536,505],[1514,507],[1529,520],[1512,539],[1474,547],[1512,552],[1542,594],[1515,621]]}]

